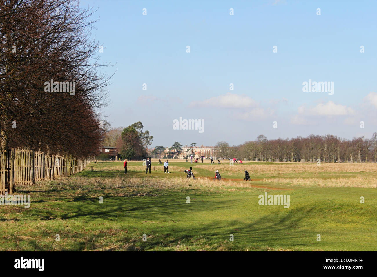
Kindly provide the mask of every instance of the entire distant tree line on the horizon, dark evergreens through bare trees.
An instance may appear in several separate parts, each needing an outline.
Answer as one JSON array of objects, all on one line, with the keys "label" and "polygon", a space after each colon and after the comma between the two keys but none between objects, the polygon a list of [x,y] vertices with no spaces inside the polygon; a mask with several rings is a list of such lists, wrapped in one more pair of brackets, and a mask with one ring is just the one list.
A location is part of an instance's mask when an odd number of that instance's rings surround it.
[{"label": "entire distant tree line on the horizon, dark evergreens through bare trees", "polygon": [[[138,126],[138,132],[132,128]],[[140,128],[141,127],[141,128]],[[169,151],[165,153],[166,147],[163,145],[156,146],[150,153],[147,147],[152,144],[153,136],[149,136],[146,131],[143,139],[141,122],[135,122],[127,128],[113,128],[107,132],[105,141],[107,145],[117,147],[121,150],[122,157],[127,159],[144,158],[148,155],[155,155],[158,158],[176,159],[184,150],[182,144],[175,141]],[[133,130],[133,131],[131,131]],[[123,137],[122,137],[123,133]],[[127,135],[126,135],[127,134]],[[134,134],[134,135],[131,135]],[[139,134],[139,139],[137,139]],[[141,136],[140,136],[141,135]],[[133,144],[127,144],[124,139],[131,137],[135,140]],[[142,142],[144,141],[144,143]],[[126,147],[126,145],[129,145]],[[184,158],[193,153],[196,143],[189,145],[189,149],[184,153]],[[277,138],[268,140],[266,136],[259,135],[254,141],[246,141],[239,145],[229,145],[226,141],[219,141],[213,153],[215,159],[247,159],[250,161],[316,161],[320,159],[324,162],[376,162],[377,161],[377,133],[372,137],[365,136],[354,137],[351,140],[340,138],[334,135],[309,135],[307,137],[297,136],[296,138]],[[205,153],[206,158],[212,153]],[[208,157],[207,157],[208,156]]]}]

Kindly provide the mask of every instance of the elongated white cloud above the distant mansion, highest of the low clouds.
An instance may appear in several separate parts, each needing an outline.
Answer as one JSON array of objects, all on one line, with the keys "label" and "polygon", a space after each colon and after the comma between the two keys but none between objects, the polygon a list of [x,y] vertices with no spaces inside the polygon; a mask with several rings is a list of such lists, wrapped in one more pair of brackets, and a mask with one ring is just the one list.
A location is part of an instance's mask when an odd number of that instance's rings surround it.
[{"label": "elongated white cloud above the distant mansion, highest of the low clouds", "polygon": [[253,99],[245,95],[238,95],[228,92],[225,95],[212,97],[205,100],[192,101],[190,106],[192,107],[208,107],[216,106],[223,108],[248,108],[255,107],[258,103]]}]

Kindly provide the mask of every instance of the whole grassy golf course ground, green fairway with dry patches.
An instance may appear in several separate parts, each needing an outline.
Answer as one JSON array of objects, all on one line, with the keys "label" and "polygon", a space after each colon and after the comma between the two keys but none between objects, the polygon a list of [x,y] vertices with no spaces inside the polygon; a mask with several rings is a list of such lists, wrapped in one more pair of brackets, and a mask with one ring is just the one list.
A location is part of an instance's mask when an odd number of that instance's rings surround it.
[{"label": "whole grassy golf course ground, green fairway with dry patches", "polygon": [[[123,163],[98,162],[75,176],[18,187],[18,194],[30,194],[30,208],[0,206],[0,250],[377,250],[376,188],[312,181],[356,181],[376,176],[373,170],[316,172],[310,164],[300,173],[276,171],[274,163],[206,162],[193,164],[198,179],[187,180],[183,170],[190,165],[169,162],[166,174],[153,162],[145,174],[141,161],[129,162],[124,175]],[[258,173],[258,166],[271,167],[270,174]],[[216,169],[224,181],[213,181]],[[239,181],[244,170],[261,180]],[[302,185],[293,183],[297,178]],[[259,205],[265,192],[289,194],[290,207]]]}]

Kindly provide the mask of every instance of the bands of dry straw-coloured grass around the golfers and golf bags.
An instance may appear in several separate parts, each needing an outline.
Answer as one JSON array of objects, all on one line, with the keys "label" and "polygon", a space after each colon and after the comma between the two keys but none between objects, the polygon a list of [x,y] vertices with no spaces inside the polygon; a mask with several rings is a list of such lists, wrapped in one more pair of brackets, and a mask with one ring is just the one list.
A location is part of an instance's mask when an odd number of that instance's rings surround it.
[{"label": "bands of dry straw-coloured grass around the golfers and golf bags", "polygon": [[[179,160],[178,160],[179,161]],[[182,160],[184,161],[184,160]],[[190,165],[190,164],[189,164]],[[187,164],[184,161],[182,167],[179,166],[169,166],[170,171],[182,171]],[[123,167],[121,167],[123,170]],[[293,185],[293,186],[303,186],[303,187],[359,187],[359,188],[377,188],[377,181],[374,177],[374,173],[377,171],[377,164],[337,164],[337,163],[321,163],[317,166],[316,163],[276,163],[276,164],[257,164],[254,162],[247,162],[244,165],[234,165],[229,164],[215,164],[215,165],[200,165],[199,168],[207,169],[209,171],[219,170],[221,174],[233,175],[243,173],[244,170],[248,170],[250,174],[271,174],[278,175],[289,174],[289,173],[321,173],[321,172],[336,172],[339,174],[334,174],[333,177],[328,176],[327,178],[317,178],[317,176],[308,176],[305,178],[297,178],[297,175],[293,177],[287,176],[286,178],[264,178],[264,184],[270,185]],[[161,169],[161,168],[160,168]],[[93,170],[96,167],[93,166]],[[115,170],[114,167],[98,167],[97,170]],[[144,171],[145,166],[143,165],[130,165],[128,167],[129,171]],[[152,167],[153,170],[153,167]],[[342,172],[355,172],[358,173],[356,176],[344,177],[340,173]],[[363,172],[369,174],[363,174]],[[214,181],[207,178],[201,178],[196,174],[197,178],[194,180],[187,180],[185,174],[182,177],[161,178],[153,176],[151,178],[140,178],[140,177],[130,177],[124,178],[123,174],[121,176],[115,176],[114,178],[100,178],[92,177],[87,178],[83,176],[70,176],[58,178],[54,181],[54,185],[50,181],[37,182],[35,186],[29,188],[35,188],[37,190],[49,190],[52,187],[55,189],[63,189],[65,187],[75,187],[75,188],[103,188],[103,189],[113,189],[113,188],[130,188],[130,189],[206,189],[206,190],[237,190],[238,188],[251,188],[251,185],[259,185],[259,182],[236,182],[236,181]],[[377,176],[377,174],[375,175]],[[262,184],[263,185],[263,184]],[[268,185],[267,185],[268,186]]]}]

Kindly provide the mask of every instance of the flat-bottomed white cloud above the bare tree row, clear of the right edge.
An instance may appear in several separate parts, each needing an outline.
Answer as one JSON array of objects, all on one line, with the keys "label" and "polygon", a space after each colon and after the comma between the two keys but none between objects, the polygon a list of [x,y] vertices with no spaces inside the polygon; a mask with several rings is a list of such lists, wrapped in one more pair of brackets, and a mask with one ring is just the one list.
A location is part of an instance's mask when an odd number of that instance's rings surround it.
[{"label": "flat-bottomed white cloud above the bare tree row, clear of the right edge", "polygon": [[335,104],[333,101],[328,101],[326,104],[320,103],[317,106],[307,109],[305,106],[300,106],[298,112],[302,115],[353,115],[355,111],[340,104]]}]

